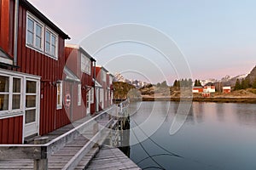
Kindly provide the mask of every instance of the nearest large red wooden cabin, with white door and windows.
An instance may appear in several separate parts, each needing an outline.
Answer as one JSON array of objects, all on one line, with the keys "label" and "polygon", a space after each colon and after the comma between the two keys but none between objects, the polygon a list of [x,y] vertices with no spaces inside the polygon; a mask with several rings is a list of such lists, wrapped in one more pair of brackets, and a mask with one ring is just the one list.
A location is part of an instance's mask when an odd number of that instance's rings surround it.
[{"label": "nearest large red wooden cabin, with white door and windows", "polygon": [[69,37],[26,0],[0,4],[0,144],[21,144],[70,122],[61,81]]}]

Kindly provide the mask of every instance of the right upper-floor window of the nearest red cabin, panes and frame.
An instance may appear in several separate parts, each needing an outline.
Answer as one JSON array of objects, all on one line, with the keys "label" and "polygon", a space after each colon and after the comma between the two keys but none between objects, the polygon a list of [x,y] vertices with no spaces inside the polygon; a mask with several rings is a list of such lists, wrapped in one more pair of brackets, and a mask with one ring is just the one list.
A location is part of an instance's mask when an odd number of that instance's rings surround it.
[{"label": "right upper-floor window of the nearest red cabin, panes and frame", "polygon": [[45,53],[57,59],[57,39],[55,33],[46,29],[45,31]]}]

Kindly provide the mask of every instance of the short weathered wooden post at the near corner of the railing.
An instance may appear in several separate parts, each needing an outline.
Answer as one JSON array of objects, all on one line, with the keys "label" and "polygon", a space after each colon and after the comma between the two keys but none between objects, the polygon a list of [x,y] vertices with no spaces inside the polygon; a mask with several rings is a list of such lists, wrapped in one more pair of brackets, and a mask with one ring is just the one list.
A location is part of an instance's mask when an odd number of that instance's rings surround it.
[{"label": "short weathered wooden post at the near corner of the railing", "polygon": [[[48,141],[49,141],[48,137],[42,137],[42,138],[34,139],[34,144],[46,144]],[[47,170],[47,169],[48,169],[48,158],[34,160],[34,170]]]}]

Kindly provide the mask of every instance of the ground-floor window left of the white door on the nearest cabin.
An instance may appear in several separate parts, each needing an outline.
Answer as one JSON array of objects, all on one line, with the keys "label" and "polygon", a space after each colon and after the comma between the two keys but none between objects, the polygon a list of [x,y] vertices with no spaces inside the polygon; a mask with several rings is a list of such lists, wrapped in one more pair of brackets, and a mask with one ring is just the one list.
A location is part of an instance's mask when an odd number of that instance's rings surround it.
[{"label": "ground-floor window left of the white door on the nearest cabin", "polygon": [[0,75],[0,112],[21,109],[21,78]]}]

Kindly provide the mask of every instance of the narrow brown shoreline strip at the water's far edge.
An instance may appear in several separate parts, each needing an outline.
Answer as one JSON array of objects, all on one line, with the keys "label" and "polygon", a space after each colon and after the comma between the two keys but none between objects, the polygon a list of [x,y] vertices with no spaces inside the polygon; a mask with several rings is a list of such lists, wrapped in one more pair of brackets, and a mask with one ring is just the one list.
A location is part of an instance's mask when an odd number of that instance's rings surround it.
[{"label": "narrow brown shoreline strip at the water's far edge", "polygon": [[[166,97],[143,97],[143,101],[177,101],[179,102],[180,98],[166,98]],[[190,99],[182,99],[182,100],[190,100]],[[199,98],[195,97],[192,99],[195,102],[214,102],[214,103],[247,103],[247,104],[256,104],[256,98]]]}]

